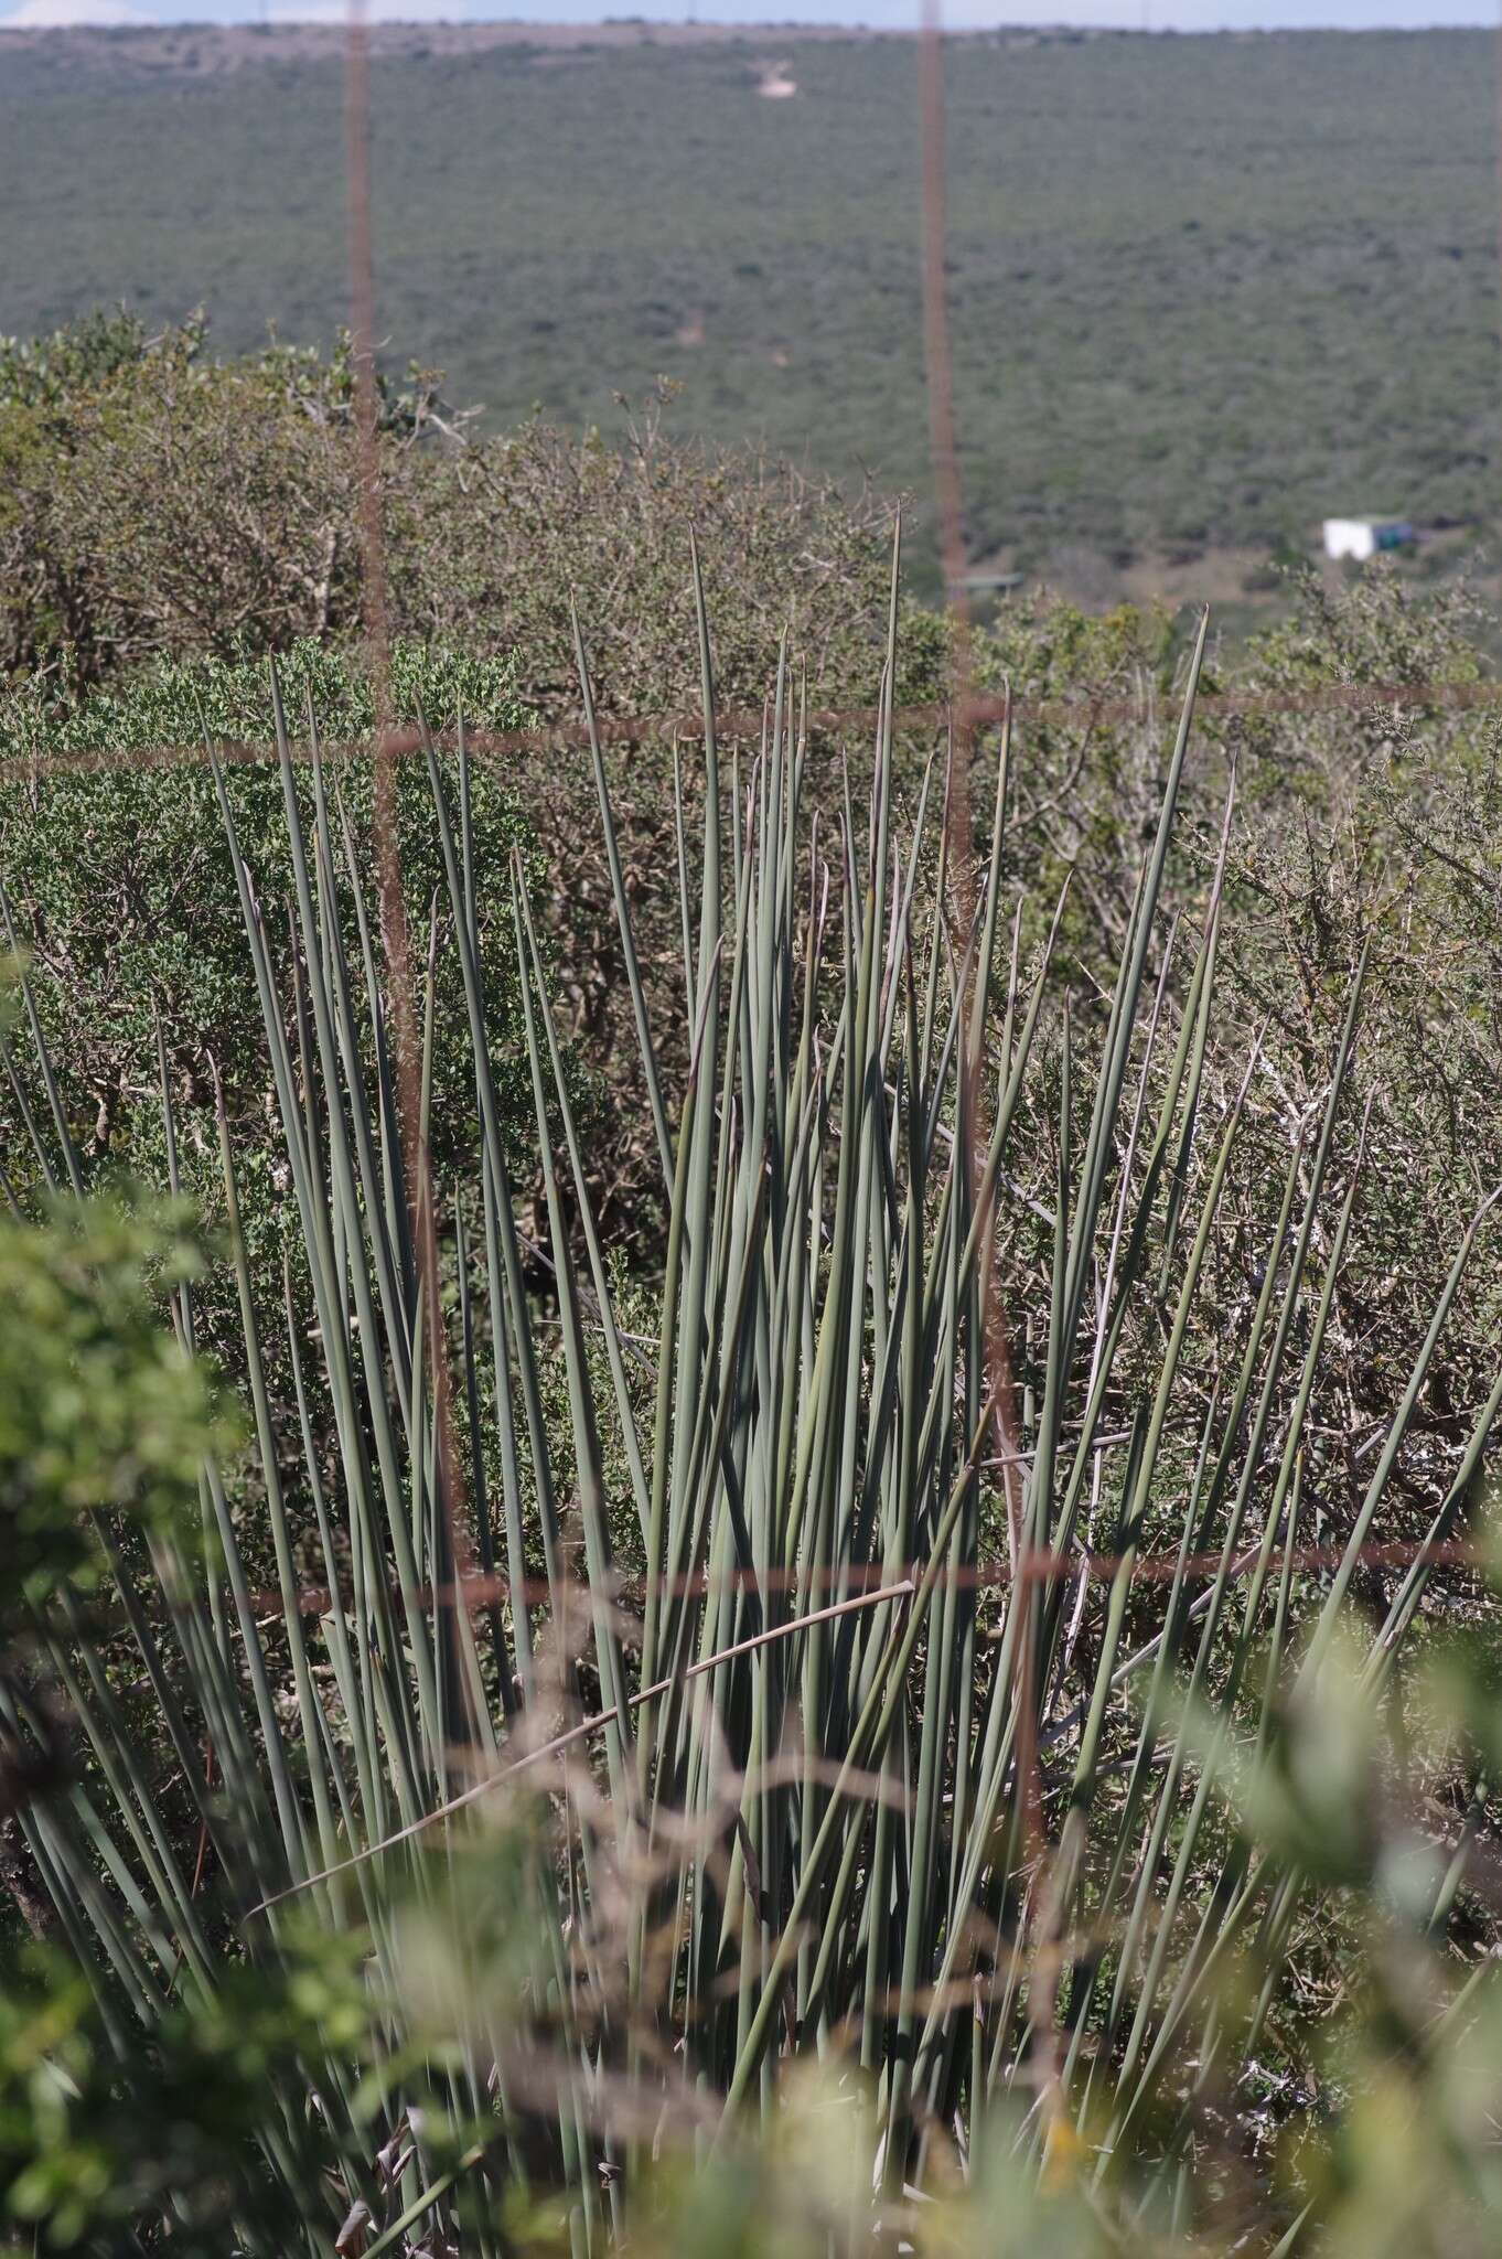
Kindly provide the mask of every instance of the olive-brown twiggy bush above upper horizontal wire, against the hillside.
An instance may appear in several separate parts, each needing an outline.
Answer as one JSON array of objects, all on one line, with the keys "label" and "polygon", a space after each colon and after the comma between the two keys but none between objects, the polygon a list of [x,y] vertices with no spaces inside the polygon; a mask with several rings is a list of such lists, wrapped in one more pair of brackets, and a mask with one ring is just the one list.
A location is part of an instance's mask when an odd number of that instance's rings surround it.
[{"label": "olive-brown twiggy bush above upper horizontal wire, against the hillside", "polygon": [[[519,696],[576,712],[569,605],[599,610],[605,712],[698,696],[682,547],[698,529],[721,691],[757,705],[797,639],[815,700],[870,696],[890,511],[786,463],[533,422],[463,431],[436,380],[382,391],[393,633],[519,653]],[[239,660],[359,633],[348,341],[217,361],[199,323],[86,323],[0,350],[0,675],[93,687],[156,660]],[[922,657],[915,637],[912,660]],[[933,682],[928,682],[928,689]]]}]

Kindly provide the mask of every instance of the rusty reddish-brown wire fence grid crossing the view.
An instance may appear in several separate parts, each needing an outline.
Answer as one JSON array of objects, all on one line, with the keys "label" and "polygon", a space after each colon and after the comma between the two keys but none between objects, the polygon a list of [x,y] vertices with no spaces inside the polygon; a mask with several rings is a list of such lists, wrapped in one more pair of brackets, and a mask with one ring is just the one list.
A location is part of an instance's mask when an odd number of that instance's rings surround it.
[{"label": "rusty reddish-brown wire fence grid crossing the view", "polygon": [[[1502,9],[1497,27],[1497,136],[1502,149]],[[940,0],[924,0],[922,27],[917,34],[917,104],[922,122],[922,273],[924,273],[924,359],[926,359],[926,386],[928,386],[928,418],[931,418],[931,463],[933,463],[933,501],[935,522],[940,540],[940,560],[944,572],[946,603],[951,614],[951,696],[944,703],[931,705],[908,705],[894,709],[894,723],[903,730],[931,730],[940,734],[949,745],[949,793],[946,793],[946,867],[951,872],[951,886],[955,899],[951,904],[955,931],[964,931],[973,904],[969,904],[964,890],[971,883],[971,861],[967,852],[960,852],[960,843],[971,838],[971,764],[976,759],[976,748],[983,732],[998,727],[1003,721],[1012,723],[1025,743],[1028,727],[1057,727],[1057,730],[1098,730],[1114,725],[1132,725],[1145,718],[1143,703],[1136,698],[1053,698],[1053,700],[1028,700],[1025,696],[985,696],[976,689],[973,664],[971,664],[971,614],[969,596],[964,585],[964,495],[960,481],[960,441],[958,441],[958,409],[953,389],[953,364],[949,343],[951,309],[946,303],[946,280],[944,280],[944,246],[946,246],[946,145],[944,145],[944,27],[940,16]],[[449,1344],[443,1331],[443,1294],[440,1294],[440,1272],[438,1272],[438,1190],[434,1184],[431,1154],[422,1136],[422,1105],[420,1105],[420,1082],[422,1082],[422,1037],[418,1028],[416,996],[418,996],[418,967],[413,958],[413,940],[407,915],[407,895],[402,881],[402,856],[398,843],[395,825],[395,773],[398,764],[422,752],[427,739],[402,725],[391,712],[388,694],[388,599],[386,599],[386,553],[384,553],[384,524],[382,524],[382,470],[379,470],[379,445],[377,445],[377,384],[375,384],[375,341],[377,341],[377,294],[375,294],[375,242],[373,242],[373,199],[370,199],[370,172],[373,172],[373,149],[370,149],[370,38],[368,38],[368,11],[366,0],[350,0],[348,32],[346,32],[346,181],[348,181],[348,300],[350,300],[350,334],[352,334],[352,361],[355,361],[355,434],[357,434],[357,463],[359,463],[359,556],[361,556],[361,608],[364,608],[364,642],[366,660],[370,669],[370,680],[375,689],[375,730],[368,741],[328,745],[325,752],[334,759],[366,759],[375,770],[375,813],[373,813],[373,861],[375,861],[375,892],[379,904],[379,933],[384,949],[384,969],[391,996],[391,1026],[395,1039],[395,1089],[398,1089],[398,1111],[402,1125],[402,1143],[409,1166],[407,1202],[413,1229],[413,1247],[418,1251],[425,1306],[427,1306],[427,1351],[431,1360],[431,1380],[436,1396],[436,1430],[438,1430],[438,1495],[443,1500],[445,1520],[449,1527],[449,1559],[456,1563],[454,1581],[443,1586],[429,1586],[420,1595],[425,1608],[438,1611],[474,1611],[497,1602],[547,1602],[549,1588],[538,1584],[535,1588],[517,1586],[508,1577],[483,1575],[472,1568],[470,1545],[465,1536],[465,1498],[463,1498],[463,1453],[459,1450],[454,1434],[454,1380],[449,1373]],[[1502,181],[1502,167],[1500,167]],[[1502,217],[1502,210],[1500,210]],[[1500,255],[1502,255],[1502,233],[1500,233]],[[1197,716],[1213,723],[1251,723],[1251,721],[1276,721],[1276,718],[1310,718],[1310,716],[1380,716],[1391,709],[1430,709],[1430,712],[1502,712],[1502,682],[1493,680],[1427,680],[1427,682],[1333,682],[1301,691],[1274,691],[1274,694],[1204,694],[1197,700]],[[840,732],[872,732],[881,721],[881,709],[876,705],[858,707],[815,707],[806,714],[806,727],[818,734],[840,734]],[[580,721],[556,723],[547,727],[519,727],[519,730],[468,730],[465,745],[481,761],[517,761],[526,764],[529,757],[578,752],[585,755],[594,739],[601,743],[648,743],[648,741],[678,741],[693,743],[702,741],[707,718],[696,709],[637,714],[628,718],[601,716],[594,721],[592,730]],[[766,714],[761,709],[723,709],[714,714],[714,727],[723,739],[759,739],[766,725]],[[438,750],[454,745],[452,732],[434,732],[431,743]],[[307,748],[291,743],[291,755],[307,757]],[[20,757],[0,764],[0,784],[18,784],[23,779],[41,779],[47,775],[90,775],[108,770],[147,770],[147,768],[174,768],[185,764],[206,764],[210,759],[221,759],[228,764],[255,764],[276,759],[276,750],[257,743],[217,743],[212,755],[206,745],[154,745],[133,752],[79,752],[79,755],[38,755]],[[971,1071],[973,1071],[971,1062]],[[973,1078],[983,1084],[985,1078]],[[958,1136],[967,1145],[967,1168],[971,1184],[980,1184],[980,1157],[987,1143],[987,1120],[985,1107],[962,1109],[958,1123]],[[994,1213],[989,1218],[992,1227],[996,1222]],[[987,1344],[987,1367],[992,1378],[992,1401],[996,1405],[996,1432],[994,1453],[985,1462],[992,1471],[1003,1471],[1003,1475],[1019,1466],[1025,1455],[1021,1450],[1021,1428],[1014,1410],[1014,1376],[1012,1376],[1012,1346],[1010,1346],[1010,1324],[1003,1308],[1001,1285],[996,1279],[996,1265],[985,1270],[985,1299],[983,1299],[983,1328]],[[1346,1559],[1346,1547],[1333,1545],[1290,1545],[1267,1547],[1247,1545],[1233,1554],[1226,1563],[1220,1552],[1204,1556],[1179,1556],[1179,1554],[1132,1554],[1127,1559],[1091,1552],[1082,1547],[1080,1552],[1057,1554],[1050,1550],[1030,1550],[1028,1545],[1014,1559],[992,1559],[978,1561],[971,1568],[942,1570],[944,1584],[958,1584],[969,1590],[1005,1590],[1019,1584],[1046,1581],[1046,1584],[1071,1584],[1071,1581],[1111,1581],[1123,1568],[1129,1570],[1132,1579],[1143,1584],[1172,1581],[1174,1577],[1193,1575],[1229,1575],[1245,1577],[1251,1572],[1281,1572],[1283,1568],[1301,1572],[1319,1572],[1326,1568],[1337,1568]],[[1369,1568],[1416,1568],[1416,1565],[1450,1565],[1461,1570],[1488,1570],[1495,1565],[1493,1550],[1475,1541],[1443,1541],[1443,1543],[1366,1543],[1357,1559]],[[883,1570],[881,1597],[890,1597],[890,1590],[901,1590],[901,1579],[912,1579],[928,1563],[908,1563],[906,1568],[892,1572]],[[829,1581],[838,1581],[842,1590],[852,1584],[861,1584],[858,1568],[840,1568],[827,1572]],[[897,1575],[897,1584],[892,1584]],[[784,1586],[800,1584],[804,1590],[820,1584],[820,1572],[784,1572]],[[754,1572],[734,1572],[736,1584],[757,1584]],[[870,1579],[867,1579],[870,1581]],[[608,1595],[621,1608],[637,1606],[648,1599],[653,1590],[657,1593],[709,1593],[714,1579],[700,1575],[696,1579],[632,1579],[623,1577]],[[411,1595],[409,1595],[411,1597]],[[276,1608],[282,1595],[264,1593],[253,1595],[257,1606]],[[298,1606],[309,1613],[323,1613],[330,1606],[332,1595],[325,1588],[307,1586],[298,1595]],[[797,1629],[802,1617],[791,1620],[786,1629]],[[587,1719],[578,1728],[590,1730],[601,1719]],[[1037,1762],[1037,1753],[1034,1753]],[[438,1816],[438,1814],[434,1814]]]}]

